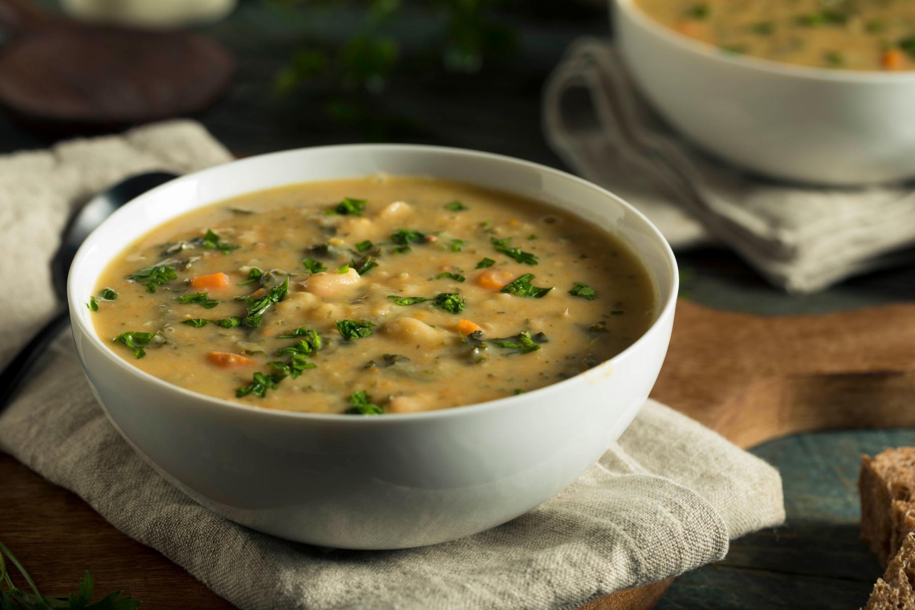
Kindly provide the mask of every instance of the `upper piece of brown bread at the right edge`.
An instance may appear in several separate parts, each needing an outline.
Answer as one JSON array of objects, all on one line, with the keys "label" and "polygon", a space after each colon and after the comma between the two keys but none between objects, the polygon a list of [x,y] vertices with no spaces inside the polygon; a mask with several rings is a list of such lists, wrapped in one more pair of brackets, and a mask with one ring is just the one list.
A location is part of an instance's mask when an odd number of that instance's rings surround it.
[{"label": "upper piece of brown bread at the right edge", "polygon": [[915,529],[915,447],[886,449],[862,456],[861,538],[882,565],[896,555]]}]

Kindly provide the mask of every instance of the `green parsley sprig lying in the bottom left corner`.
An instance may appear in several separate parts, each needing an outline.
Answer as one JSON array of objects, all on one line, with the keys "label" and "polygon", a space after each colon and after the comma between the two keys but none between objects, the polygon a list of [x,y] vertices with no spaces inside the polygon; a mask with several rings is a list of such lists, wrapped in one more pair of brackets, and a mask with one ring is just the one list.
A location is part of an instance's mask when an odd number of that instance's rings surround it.
[{"label": "green parsley sprig lying in the bottom left corner", "polygon": [[[24,591],[13,582],[12,574],[6,562],[22,575],[28,584],[31,593]],[[16,559],[3,542],[0,542],[0,608],[3,610],[136,610],[140,602],[129,595],[124,597],[120,591],[107,595],[104,599],[90,604],[95,583],[92,574],[84,573],[80,579],[76,593],[69,595],[44,595],[38,591],[38,586],[26,571],[26,568]]]}]

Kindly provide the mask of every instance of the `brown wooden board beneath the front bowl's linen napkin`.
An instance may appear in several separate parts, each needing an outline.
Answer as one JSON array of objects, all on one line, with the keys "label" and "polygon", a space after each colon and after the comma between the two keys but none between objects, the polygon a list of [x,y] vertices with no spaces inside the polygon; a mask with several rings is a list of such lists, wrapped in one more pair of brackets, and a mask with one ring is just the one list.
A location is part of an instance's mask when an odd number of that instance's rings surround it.
[{"label": "brown wooden board beneath the front bowl's linen napkin", "polygon": [[[823,428],[915,425],[913,395],[915,304],[767,317],[688,301],[678,304],[652,393],[745,447]],[[0,455],[0,481],[0,540],[48,592],[71,589],[89,570],[98,591],[123,587],[146,607],[231,607],[9,456]],[[620,591],[582,610],[647,610],[671,583]]]}]

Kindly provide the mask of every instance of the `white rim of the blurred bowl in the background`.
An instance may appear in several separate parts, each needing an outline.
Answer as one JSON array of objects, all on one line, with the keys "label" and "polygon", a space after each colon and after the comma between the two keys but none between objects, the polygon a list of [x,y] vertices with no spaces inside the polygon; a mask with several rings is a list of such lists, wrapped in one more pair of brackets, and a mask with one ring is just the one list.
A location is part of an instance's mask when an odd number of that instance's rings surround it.
[{"label": "white rim of the blurred bowl in the background", "polygon": [[[706,59],[718,61],[726,65],[765,72],[798,80],[819,80],[822,82],[842,83],[910,83],[915,81],[915,70],[900,70],[899,72],[887,70],[847,70],[844,68],[816,68],[791,64],[775,59],[758,58],[751,55],[731,55],[722,53],[720,48],[701,40],[685,36],[670,27],[664,26],[660,21],[645,13],[635,0],[609,0],[611,9],[617,7],[619,13],[630,17],[640,27],[651,32],[655,37],[660,37],[671,44],[702,56]],[[614,28],[618,27],[616,20]],[[616,41],[616,40],[615,40]]]}]

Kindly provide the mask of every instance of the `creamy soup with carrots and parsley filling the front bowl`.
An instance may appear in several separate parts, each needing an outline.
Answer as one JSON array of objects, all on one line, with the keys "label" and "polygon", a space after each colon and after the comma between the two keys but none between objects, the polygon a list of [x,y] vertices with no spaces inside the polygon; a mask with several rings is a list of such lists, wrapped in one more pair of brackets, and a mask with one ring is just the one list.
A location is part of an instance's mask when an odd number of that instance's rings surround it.
[{"label": "creamy soup with carrots and parsley filling the front bowl", "polygon": [[654,316],[648,274],[607,233],[528,199],[412,177],[189,212],[118,256],[87,305],[98,335],[159,379],[362,414],[541,388],[618,354]]}]

